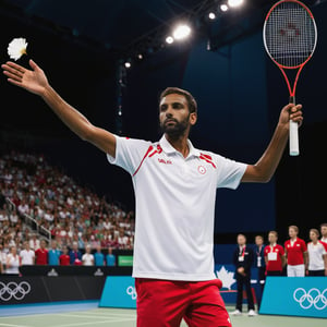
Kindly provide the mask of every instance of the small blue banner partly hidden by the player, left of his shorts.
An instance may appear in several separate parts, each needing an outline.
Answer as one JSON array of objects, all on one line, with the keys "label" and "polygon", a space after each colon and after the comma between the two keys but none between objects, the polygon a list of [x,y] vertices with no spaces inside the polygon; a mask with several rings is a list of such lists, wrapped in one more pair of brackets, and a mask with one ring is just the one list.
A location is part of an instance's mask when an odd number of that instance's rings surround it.
[{"label": "small blue banner partly hidden by the player, left of his shorts", "polygon": [[107,277],[99,306],[136,308],[134,278],[125,276]]}]

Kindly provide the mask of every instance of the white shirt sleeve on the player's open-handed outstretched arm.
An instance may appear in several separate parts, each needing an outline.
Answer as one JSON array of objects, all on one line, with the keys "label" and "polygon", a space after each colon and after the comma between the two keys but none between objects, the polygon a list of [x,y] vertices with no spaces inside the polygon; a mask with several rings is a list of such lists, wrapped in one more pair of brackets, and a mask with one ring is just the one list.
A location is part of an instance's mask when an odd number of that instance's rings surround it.
[{"label": "white shirt sleeve on the player's open-handed outstretched arm", "polygon": [[116,135],[116,157],[107,154],[107,159],[133,174],[150,147],[150,142]]}]

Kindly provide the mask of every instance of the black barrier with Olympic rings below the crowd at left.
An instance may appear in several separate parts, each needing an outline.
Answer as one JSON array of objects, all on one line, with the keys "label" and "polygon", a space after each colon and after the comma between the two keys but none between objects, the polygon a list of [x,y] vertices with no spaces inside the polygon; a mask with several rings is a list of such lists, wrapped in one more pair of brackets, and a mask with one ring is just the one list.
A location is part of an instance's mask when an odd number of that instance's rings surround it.
[{"label": "black barrier with Olympic rings below the crowd at left", "polygon": [[105,277],[0,276],[0,305],[99,300]]}]

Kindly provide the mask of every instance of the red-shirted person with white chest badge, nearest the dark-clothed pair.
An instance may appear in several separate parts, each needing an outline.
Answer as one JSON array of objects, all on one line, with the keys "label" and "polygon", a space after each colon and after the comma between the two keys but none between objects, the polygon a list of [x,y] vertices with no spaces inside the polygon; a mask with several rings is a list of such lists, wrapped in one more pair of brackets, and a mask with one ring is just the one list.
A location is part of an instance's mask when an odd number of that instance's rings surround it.
[{"label": "red-shirted person with white chest badge, nearest the dark-clothed pair", "polygon": [[268,233],[269,245],[265,247],[266,276],[281,276],[286,265],[283,247],[277,244],[278,233],[271,230]]}]

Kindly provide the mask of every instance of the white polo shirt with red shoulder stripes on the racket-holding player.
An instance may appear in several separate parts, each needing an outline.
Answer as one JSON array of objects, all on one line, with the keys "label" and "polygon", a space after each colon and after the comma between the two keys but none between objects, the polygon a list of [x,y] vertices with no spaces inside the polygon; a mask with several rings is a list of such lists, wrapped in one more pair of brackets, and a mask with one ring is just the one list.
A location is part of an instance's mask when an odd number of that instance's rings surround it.
[{"label": "white polo shirt with red shoulder stripes on the racket-holding player", "polygon": [[136,202],[133,277],[211,280],[217,187],[235,189],[246,165],[198,150],[186,158],[165,136],[157,143],[116,136],[116,158],[133,180]]}]

